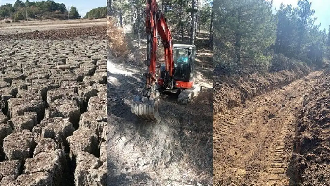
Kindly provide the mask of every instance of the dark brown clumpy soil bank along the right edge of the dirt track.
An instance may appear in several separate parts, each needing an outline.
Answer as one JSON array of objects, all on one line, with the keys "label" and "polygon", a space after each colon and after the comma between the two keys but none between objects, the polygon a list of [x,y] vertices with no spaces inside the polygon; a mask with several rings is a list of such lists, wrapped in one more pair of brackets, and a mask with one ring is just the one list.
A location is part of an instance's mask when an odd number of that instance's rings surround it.
[{"label": "dark brown clumpy soil bank along the right edge of the dirt track", "polygon": [[297,120],[294,154],[287,175],[291,185],[330,185],[330,69],[304,97]]}]

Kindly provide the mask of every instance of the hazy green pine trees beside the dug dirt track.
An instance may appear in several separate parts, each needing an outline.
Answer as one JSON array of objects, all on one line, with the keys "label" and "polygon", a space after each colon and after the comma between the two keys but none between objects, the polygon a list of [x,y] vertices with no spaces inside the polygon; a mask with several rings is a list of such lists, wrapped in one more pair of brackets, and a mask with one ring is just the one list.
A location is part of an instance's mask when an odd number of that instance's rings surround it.
[{"label": "hazy green pine trees beside the dug dirt track", "polygon": [[316,24],[312,0],[214,1],[214,62],[217,74],[251,74],[320,68],[330,63],[330,26]]}]

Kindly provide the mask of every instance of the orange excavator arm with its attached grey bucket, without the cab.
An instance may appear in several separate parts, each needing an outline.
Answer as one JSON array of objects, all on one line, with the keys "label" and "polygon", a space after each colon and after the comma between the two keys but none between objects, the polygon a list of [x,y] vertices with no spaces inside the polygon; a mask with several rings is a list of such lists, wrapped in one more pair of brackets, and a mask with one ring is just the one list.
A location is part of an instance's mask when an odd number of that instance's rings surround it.
[{"label": "orange excavator arm with its attached grey bucket, without the cab", "polygon": [[146,7],[146,32],[147,32],[147,60],[148,70],[143,75],[146,85],[142,95],[137,95],[131,105],[132,113],[141,119],[160,122],[158,113],[159,92],[156,90],[156,53],[157,33],[162,39],[165,58],[165,76],[163,88],[173,89],[174,61],[173,39],[167,26],[164,14],[159,9],[156,0],[147,0]]}]

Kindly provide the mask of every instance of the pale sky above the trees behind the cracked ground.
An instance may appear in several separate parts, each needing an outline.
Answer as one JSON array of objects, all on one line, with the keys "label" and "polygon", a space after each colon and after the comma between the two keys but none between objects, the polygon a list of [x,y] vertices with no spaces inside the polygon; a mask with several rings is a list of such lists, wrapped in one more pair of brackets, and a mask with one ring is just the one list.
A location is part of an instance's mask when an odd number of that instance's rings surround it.
[{"label": "pale sky above the trees behind the cracked ground", "polygon": [[[25,2],[25,0],[22,0]],[[30,2],[33,1],[41,1],[41,0],[29,0]],[[98,7],[105,7],[107,6],[107,1],[106,0],[54,0],[56,3],[64,3],[66,8],[70,6],[75,6],[78,9],[78,12],[80,14],[80,10],[82,10],[82,16],[85,16],[86,12],[93,8],[98,8]],[[0,5],[10,3],[14,4],[16,0],[0,0]]]}]

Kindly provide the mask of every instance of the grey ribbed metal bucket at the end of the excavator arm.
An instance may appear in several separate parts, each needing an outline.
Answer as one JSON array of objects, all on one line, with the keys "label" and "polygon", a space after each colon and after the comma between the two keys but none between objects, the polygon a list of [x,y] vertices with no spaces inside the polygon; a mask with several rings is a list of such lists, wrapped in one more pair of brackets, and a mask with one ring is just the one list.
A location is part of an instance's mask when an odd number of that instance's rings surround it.
[{"label": "grey ribbed metal bucket at the end of the excavator arm", "polygon": [[137,95],[132,101],[132,113],[138,118],[146,121],[160,122],[158,113],[158,98],[148,98],[142,95]]}]

